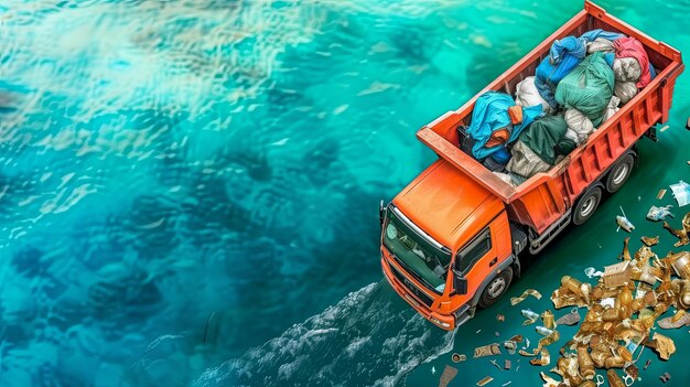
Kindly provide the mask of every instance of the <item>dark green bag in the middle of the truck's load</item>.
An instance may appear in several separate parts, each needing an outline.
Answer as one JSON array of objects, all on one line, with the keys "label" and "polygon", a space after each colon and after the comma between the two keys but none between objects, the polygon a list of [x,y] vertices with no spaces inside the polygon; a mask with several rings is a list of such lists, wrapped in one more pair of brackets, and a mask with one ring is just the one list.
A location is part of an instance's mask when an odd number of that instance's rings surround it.
[{"label": "dark green bag in the middle of the truck's load", "polygon": [[529,147],[539,159],[553,165],[556,146],[563,140],[568,125],[561,116],[547,116],[533,121],[518,138]]}]

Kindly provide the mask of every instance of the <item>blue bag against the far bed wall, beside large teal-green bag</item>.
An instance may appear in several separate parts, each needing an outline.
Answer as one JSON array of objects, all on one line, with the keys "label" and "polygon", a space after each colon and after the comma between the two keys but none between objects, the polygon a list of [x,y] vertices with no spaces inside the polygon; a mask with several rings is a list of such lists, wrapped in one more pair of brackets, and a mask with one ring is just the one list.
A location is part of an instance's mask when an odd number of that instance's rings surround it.
[{"label": "blue bag against the far bed wall, beside large teal-green bag", "polygon": [[539,90],[541,97],[558,108],[554,93],[558,84],[568,75],[575,66],[584,60],[586,55],[586,41],[574,36],[565,36],[557,40],[551,45],[549,56],[537,66],[535,86]]}]

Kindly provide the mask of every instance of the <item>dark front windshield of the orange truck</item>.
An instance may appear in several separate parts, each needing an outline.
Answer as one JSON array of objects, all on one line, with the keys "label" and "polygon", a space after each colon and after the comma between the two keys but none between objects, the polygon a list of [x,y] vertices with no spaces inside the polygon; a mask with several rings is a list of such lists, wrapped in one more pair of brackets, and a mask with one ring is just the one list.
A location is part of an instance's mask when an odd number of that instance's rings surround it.
[{"label": "dark front windshield of the orange truck", "polygon": [[416,233],[393,211],[387,212],[384,245],[418,280],[438,293],[445,288],[451,254],[440,249]]}]

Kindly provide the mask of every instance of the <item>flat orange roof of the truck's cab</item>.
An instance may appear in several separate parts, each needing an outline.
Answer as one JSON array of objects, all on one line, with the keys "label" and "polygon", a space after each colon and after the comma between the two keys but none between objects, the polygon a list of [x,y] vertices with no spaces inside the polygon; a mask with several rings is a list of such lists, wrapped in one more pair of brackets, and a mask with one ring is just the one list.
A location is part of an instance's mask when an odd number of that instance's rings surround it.
[{"label": "flat orange roof of the truck's cab", "polygon": [[[393,198],[393,204],[452,250],[464,245],[505,208],[496,195],[443,159],[429,165]],[[457,238],[457,235],[466,237]]]}]

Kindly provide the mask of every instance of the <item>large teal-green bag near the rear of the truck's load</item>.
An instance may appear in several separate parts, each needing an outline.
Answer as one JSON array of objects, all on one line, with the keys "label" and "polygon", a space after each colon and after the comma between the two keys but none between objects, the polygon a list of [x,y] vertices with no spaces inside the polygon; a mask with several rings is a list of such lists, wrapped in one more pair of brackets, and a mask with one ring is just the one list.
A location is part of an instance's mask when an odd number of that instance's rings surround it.
[{"label": "large teal-green bag near the rear of the truck's load", "polygon": [[603,55],[596,52],[587,56],[556,88],[556,100],[565,109],[575,108],[583,112],[594,127],[604,118],[615,83],[613,69]]}]

